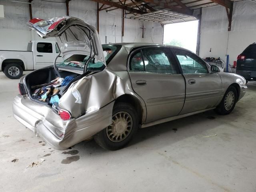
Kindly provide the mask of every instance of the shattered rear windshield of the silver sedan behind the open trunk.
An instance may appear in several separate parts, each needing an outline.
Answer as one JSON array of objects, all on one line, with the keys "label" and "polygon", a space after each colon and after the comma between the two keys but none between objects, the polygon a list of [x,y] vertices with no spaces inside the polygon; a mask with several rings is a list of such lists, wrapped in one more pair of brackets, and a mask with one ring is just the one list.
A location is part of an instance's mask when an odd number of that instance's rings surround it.
[{"label": "shattered rear windshield of the silver sedan behind the open trunk", "polygon": [[[102,45],[103,48],[103,54],[106,60],[106,64],[110,62],[110,60],[116,55],[116,53],[120,50],[120,45]],[[89,56],[81,55],[81,54],[75,54],[66,59],[65,61],[61,62],[60,64],[57,64],[58,67],[68,67],[68,68],[76,68],[79,70],[84,69],[84,65],[86,64],[86,61],[89,59]],[[94,70],[103,70],[105,68],[104,64],[97,59],[90,60],[88,64],[88,70],[94,71]]]}]

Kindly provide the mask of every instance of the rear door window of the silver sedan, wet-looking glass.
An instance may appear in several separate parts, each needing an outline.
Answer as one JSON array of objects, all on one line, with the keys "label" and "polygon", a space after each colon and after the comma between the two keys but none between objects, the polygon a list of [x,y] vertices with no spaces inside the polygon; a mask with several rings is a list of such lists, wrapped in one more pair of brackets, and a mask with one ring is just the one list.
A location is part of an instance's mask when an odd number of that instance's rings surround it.
[{"label": "rear door window of the silver sedan, wet-looking glass", "polygon": [[130,59],[130,70],[162,74],[177,74],[167,50],[164,48],[143,48]]}]

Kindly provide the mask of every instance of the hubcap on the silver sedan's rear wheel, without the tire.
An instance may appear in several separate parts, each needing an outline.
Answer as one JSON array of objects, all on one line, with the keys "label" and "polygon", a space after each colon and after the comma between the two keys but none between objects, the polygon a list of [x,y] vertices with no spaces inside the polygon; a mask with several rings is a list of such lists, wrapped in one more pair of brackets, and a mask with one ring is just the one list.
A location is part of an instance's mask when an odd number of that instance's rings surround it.
[{"label": "hubcap on the silver sedan's rear wheel, without the tire", "polygon": [[112,124],[106,128],[112,142],[121,142],[132,131],[132,117],[127,112],[118,112],[112,116]]}]

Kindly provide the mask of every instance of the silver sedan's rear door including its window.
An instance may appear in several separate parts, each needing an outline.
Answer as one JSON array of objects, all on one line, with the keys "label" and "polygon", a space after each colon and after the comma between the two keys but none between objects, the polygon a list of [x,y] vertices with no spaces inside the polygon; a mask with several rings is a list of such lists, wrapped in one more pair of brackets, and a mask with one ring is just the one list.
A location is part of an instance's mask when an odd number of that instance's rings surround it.
[{"label": "silver sedan's rear door including its window", "polygon": [[163,47],[142,48],[130,55],[132,88],[146,104],[146,122],[178,115],[184,105],[184,77],[170,55],[170,49]]}]

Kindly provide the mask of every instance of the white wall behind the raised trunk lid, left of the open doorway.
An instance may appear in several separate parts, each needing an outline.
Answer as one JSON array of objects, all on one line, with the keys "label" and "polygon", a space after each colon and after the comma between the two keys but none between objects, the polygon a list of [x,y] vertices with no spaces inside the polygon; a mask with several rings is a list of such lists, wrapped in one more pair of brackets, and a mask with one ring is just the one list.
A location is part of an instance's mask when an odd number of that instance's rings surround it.
[{"label": "white wall behind the raised trunk lid, left of the open doorway", "polygon": [[[32,15],[38,18],[51,18],[66,15],[66,4],[33,0]],[[26,27],[30,19],[28,4],[0,0],[4,5],[5,18],[0,20],[0,50],[26,50],[30,40],[42,40],[34,31]],[[80,18],[95,28],[97,26],[97,4],[87,0],[69,2],[69,14]],[[162,44],[162,26],[159,23],[125,19],[122,37],[122,10],[99,12],[100,40],[104,43],[117,42],[154,42]],[[46,39],[54,40],[54,38]]]}]

